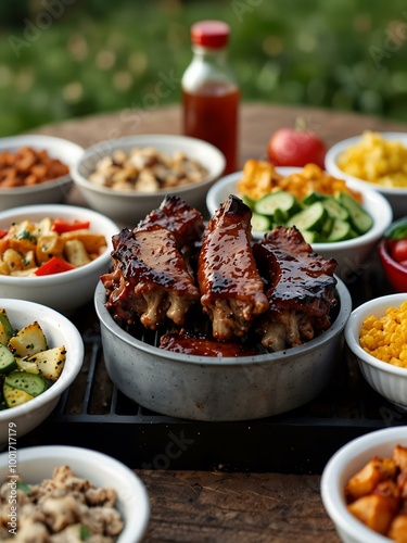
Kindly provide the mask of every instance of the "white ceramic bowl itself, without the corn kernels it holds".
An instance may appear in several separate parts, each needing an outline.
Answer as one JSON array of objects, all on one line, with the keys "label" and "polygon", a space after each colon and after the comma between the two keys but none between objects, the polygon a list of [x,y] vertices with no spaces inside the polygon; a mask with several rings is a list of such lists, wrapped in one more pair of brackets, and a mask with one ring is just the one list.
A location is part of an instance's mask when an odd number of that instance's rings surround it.
[{"label": "white ceramic bowl itself, without the corn kernels it holds", "polygon": [[352,312],[345,328],[346,343],[356,356],[365,379],[379,394],[404,409],[407,408],[407,368],[387,364],[368,354],[360,346],[359,333],[368,316],[380,318],[389,307],[399,307],[406,300],[407,292],[370,300]]}]

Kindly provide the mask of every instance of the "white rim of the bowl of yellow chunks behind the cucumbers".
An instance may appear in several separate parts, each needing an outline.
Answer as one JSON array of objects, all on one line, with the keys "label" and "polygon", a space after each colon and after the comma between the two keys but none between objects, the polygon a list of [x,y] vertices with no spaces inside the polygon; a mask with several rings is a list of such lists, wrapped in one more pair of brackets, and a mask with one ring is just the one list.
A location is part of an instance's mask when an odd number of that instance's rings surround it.
[{"label": "white rim of the bowl of yellow chunks behind the cucumbers", "polygon": [[[402,143],[405,143],[407,146],[407,132],[395,132],[395,131],[383,131],[383,132],[376,132],[382,136],[386,140],[399,140]],[[343,139],[339,141],[338,143],[334,143],[330,149],[328,149],[326,159],[325,159],[325,165],[327,172],[329,172],[331,175],[334,175],[336,177],[346,177],[349,181],[352,180],[353,182],[357,184],[357,187],[360,186],[360,184],[366,185],[372,190],[379,191],[382,194],[385,194],[386,197],[407,197],[407,187],[402,188],[402,187],[382,187],[381,185],[366,181],[365,179],[361,179],[360,177],[354,177],[351,174],[346,174],[346,172],[343,172],[336,164],[338,156],[345,150],[346,147],[353,146],[360,141],[361,135],[358,136],[353,136],[351,138]]]}]

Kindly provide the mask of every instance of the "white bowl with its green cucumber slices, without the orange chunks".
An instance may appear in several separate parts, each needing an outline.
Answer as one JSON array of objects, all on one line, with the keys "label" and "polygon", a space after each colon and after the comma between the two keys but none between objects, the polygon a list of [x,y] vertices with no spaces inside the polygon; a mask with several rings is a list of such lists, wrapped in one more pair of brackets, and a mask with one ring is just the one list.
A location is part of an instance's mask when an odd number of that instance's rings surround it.
[{"label": "white bowl with its green cucumber slices, without the orange chunks", "polygon": [[[276,167],[282,176],[302,168]],[[207,192],[209,214],[229,194],[241,198],[252,210],[252,233],[260,239],[275,226],[296,226],[305,241],[325,258],[335,258],[336,275],[344,282],[361,274],[370,255],[392,223],[393,212],[387,200],[370,188],[355,188],[346,182],[346,191],[332,190],[332,194],[309,190],[304,197],[288,190],[272,189],[255,200],[239,189],[242,172],[236,172],[217,181]],[[357,198],[354,197],[357,194]]]}]

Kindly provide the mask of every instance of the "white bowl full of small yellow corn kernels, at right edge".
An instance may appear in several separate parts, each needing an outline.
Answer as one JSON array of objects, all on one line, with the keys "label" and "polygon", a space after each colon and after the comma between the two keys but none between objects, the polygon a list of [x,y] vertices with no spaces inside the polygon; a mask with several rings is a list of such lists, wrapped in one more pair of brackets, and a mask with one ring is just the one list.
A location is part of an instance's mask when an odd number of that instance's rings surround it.
[{"label": "white bowl full of small yellow corn kernels, at right edge", "polygon": [[346,324],[345,341],[370,387],[407,409],[407,292],[361,304]]}]

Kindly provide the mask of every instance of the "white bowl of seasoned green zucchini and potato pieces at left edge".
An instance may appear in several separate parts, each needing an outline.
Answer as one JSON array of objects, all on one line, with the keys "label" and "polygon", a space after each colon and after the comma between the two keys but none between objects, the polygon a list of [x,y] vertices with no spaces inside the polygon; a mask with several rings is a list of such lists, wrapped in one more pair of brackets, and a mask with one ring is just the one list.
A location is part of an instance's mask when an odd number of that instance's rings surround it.
[{"label": "white bowl of seasoned green zucchini and potato pieces at left edge", "polygon": [[0,449],[51,414],[82,362],[81,336],[65,316],[35,302],[0,299]]}]

